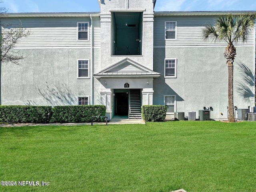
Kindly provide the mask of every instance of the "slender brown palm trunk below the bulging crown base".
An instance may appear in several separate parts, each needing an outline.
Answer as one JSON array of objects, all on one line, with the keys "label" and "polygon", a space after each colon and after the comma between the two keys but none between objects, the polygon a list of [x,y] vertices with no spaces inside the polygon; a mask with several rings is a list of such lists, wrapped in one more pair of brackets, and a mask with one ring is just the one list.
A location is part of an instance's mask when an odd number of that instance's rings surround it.
[{"label": "slender brown palm trunk below the bulging crown base", "polygon": [[228,60],[228,120],[235,122],[234,117],[234,96],[233,96],[233,62]]}]

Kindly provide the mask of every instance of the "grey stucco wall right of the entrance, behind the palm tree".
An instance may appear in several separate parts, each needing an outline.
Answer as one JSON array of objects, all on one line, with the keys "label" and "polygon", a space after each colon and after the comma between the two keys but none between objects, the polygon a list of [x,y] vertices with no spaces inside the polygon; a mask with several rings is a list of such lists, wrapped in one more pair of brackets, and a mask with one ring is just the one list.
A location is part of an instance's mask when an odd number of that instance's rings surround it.
[{"label": "grey stucco wall right of the entrance, behind the palm tree", "polygon": [[[176,111],[196,111],[211,106],[211,118],[227,118],[228,72],[225,47],[154,48],[154,104],[164,95],[176,95]],[[237,47],[234,63],[234,106],[254,106],[253,47]],[[164,78],[164,58],[177,58],[177,78]],[[223,115],[220,114],[223,113]]]}]

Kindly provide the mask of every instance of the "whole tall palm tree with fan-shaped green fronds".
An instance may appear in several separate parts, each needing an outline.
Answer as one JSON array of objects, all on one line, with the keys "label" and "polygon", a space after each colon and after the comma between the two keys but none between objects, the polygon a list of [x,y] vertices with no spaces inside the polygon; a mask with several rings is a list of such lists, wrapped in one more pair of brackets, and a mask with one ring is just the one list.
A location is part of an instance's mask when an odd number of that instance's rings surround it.
[{"label": "whole tall palm tree with fan-shaped green fronds", "polygon": [[256,14],[246,13],[239,16],[229,14],[218,16],[215,26],[208,25],[202,31],[204,40],[212,39],[214,42],[226,41],[224,57],[228,64],[228,120],[234,122],[234,102],[233,102],[233,62],[236,56],[236,44],[239,41],[246,42],[250,33],[254,30]]}]

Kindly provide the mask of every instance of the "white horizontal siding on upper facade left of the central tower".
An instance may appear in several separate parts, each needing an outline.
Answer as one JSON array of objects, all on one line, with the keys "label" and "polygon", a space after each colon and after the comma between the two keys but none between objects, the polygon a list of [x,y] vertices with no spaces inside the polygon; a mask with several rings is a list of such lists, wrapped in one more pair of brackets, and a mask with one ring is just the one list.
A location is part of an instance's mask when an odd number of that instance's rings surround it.
[{"label": "white horizontal siding on upper facade left of the central tower", "polygon": [[[100,46],[100,18],[93,19],[93,46]],[[90,17],[72,18],[22,18],[22,26],[30,31],[27,38],[22,38],[17,48],[36,47],[90,47],[92,34]],[[1,23],[11,23],[12,26],[2,27],[2,31],[14,28],[20,24],[18,18],[1,18]],[[89,41],[77,40],[77,22],[89,22]]]}]

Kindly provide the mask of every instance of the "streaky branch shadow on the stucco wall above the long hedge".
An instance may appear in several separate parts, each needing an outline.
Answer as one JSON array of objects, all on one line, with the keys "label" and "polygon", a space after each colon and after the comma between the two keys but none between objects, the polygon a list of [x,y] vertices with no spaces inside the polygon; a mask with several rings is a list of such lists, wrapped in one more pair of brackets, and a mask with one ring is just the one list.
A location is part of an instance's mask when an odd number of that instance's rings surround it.
[{"label": "streaky branch shadow on the stucco wall above the long hedge", "polygon": [[[77,104],[77,101],[75,100],[76,96],[68,91],[66,84],[60,84],[57,86],[47,84],[46,88],[38,88],[38,93],[43,97],[43,102],[49,106]],[[38,104],[34,101],[28,100],[27,105]]]}]

